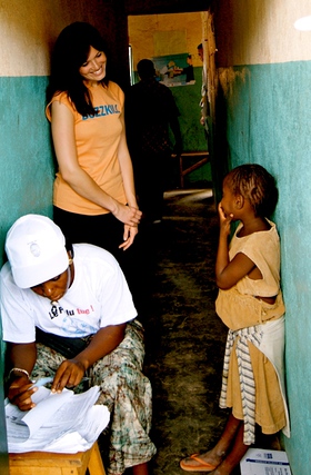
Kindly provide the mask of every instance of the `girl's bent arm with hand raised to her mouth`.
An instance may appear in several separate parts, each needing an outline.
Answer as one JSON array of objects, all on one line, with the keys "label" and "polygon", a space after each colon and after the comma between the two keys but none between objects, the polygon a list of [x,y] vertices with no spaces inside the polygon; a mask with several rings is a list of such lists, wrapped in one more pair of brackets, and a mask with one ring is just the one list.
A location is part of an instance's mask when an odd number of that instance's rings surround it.
[{"label": "girl's bent arm with hand raised to her mouth", "polygon": [[[225,216],[221,204],[218,206],[220,219],[219,245],[215,260],[215,283],[223,290],[233,287],[241,278],[249,275],[254,268],[254,263],[244,254],[238,253],[232,260],[229,259],[229,235],[232,216]],[[260,276],[258,276],[260,278]]]}]

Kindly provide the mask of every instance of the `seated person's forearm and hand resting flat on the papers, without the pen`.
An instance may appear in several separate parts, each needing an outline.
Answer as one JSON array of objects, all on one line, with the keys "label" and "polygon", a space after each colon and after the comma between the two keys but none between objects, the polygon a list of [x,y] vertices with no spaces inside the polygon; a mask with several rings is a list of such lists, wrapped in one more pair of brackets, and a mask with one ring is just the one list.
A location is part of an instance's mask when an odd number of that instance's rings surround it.
[{"label": "seated person's forearm and hand resting flat on the papers, without the pen", "polygon": [[77,386],[90,366],[113,352],[122,342],[126,326],[127,324],[111,325],[98,330],[83,352],[60,365],[52,383],[52,392],[61,392],[66,386]]}]

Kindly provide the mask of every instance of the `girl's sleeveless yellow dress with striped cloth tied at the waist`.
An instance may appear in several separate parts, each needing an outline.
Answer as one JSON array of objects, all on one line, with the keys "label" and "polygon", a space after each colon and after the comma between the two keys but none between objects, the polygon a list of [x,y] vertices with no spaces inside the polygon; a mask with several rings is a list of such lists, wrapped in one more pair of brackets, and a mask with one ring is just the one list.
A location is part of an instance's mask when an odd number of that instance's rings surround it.
[{"label": "girl's sleeveless yellow dress with striped cloth tied at the waist", "polygon": [[[215,309],[229,327],[221,407],[245,423],[244,443],[254,442],[254,424],[264,434],[283,429],[289,437],[284,389],[284,311],[280,289],[280,240],[269,221],[267,231],[239,237],[240,225],[230,243],[230,260],[247,255],[260,269],[262,279],[243,277],[229,290],[219,290]],[[269,305],[260,299],[277,296]]]}]

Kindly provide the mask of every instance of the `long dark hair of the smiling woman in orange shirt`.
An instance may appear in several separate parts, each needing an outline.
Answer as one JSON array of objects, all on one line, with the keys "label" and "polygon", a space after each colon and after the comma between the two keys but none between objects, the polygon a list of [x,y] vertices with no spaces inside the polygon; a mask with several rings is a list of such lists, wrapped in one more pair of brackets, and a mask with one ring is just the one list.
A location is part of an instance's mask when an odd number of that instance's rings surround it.
[{"label": "long dark hair of the smiling woman in orange shirt", "polygon": [[[108,56],[103,39],[91,24],[77,21],[61,31],[52,53],[50,85],[47,89],[48,103],[54,93],[67,92],[79,113],[96,115],[89,90],[79,72],[88,59],[91,47]],[[101,83],[106,87],[108,82],[106,72]]]}]

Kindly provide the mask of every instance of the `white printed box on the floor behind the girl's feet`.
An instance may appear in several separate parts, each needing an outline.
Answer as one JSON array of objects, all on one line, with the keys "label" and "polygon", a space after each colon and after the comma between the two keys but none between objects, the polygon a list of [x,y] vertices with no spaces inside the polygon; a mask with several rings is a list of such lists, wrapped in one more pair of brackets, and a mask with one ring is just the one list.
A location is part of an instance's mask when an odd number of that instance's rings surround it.
[{"label": "white printed box on the floor behind the girl's feet", "polygon": [[285,452],[249,448],[240,463],[241,475],[291,475]]}]

